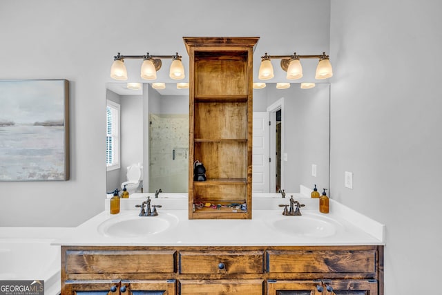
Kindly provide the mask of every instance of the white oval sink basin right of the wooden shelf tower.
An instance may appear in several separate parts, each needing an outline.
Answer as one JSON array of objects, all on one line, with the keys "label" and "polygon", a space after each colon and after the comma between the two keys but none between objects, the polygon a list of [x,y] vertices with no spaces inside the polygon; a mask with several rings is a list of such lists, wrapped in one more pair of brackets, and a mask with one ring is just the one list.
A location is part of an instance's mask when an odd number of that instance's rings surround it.
[{"label": "white oval sink basin right of the wooden shelf tower", "polygon": [[291,236],[305,236],[309,238],[324,238],[334,236],[342,227],[340,223],[320,215],[302,213],[302,216],[283,216],[271,222],[276,231]]}]

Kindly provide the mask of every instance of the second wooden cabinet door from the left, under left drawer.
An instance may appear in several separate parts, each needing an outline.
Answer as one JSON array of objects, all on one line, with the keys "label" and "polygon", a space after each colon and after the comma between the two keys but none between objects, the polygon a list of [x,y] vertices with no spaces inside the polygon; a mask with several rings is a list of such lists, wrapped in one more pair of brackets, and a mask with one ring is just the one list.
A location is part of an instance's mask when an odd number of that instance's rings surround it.
[{"label": "second wooden cabinet door from the left, under left drawer", "polygon": [[122,280],[122,295],[173,295],[176,280]]}]

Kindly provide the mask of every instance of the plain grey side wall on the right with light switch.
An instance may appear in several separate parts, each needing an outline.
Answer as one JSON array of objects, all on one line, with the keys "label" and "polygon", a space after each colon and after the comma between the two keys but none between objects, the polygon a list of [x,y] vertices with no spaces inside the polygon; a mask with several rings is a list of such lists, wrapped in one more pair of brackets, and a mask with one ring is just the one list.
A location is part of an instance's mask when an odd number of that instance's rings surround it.
[{"label": "plain grey side wall on the right with light switch", "polygon": [[439,292],[441,11],[332,0],[331,196],[386,225],[386,295]]}]

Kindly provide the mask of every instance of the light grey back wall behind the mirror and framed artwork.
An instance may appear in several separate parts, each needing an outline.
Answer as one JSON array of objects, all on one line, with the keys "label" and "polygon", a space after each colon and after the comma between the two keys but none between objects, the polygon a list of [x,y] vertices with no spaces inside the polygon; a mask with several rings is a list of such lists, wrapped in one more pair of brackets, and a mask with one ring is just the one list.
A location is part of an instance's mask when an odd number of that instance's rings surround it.
[{"label": "light grey back wall behind the mirror and framed artwork", "polygon": [[[59,1],[0,3],[0,79],[70,81],[70,180],[0,182],[0,226],[76,226],[104,209],[105,101],[113,56],[183,56],[184,36],[258,36],[260,56],[329,50],[329,1]],[[227,19],[227,16],[229,18]],[[128,60],[128,82],[142,82]],[[167,77],[163,61],[158,82]],[[277,62],[276,62],[277,64]],[[258,66],[256,66],[258,65]],[[186,71],[189,70],[185,66]],[[283,75],[276,71],[276,78]],[[189,77],[189,75],[186,75]]]}]

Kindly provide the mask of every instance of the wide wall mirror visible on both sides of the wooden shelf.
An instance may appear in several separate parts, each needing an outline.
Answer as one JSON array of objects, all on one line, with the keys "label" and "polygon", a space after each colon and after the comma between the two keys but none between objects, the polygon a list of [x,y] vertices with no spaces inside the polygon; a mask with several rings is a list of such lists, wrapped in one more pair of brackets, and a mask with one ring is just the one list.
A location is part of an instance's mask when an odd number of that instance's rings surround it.
[{"label": "wide wall mirror visible on both sides of the wooden shelf", "polygon": [[[329,92],[327,83],[309,89],[300,83],[286,89],[267,83],[253,89],[253,193],[298,193],[300,186],[314,184],[328,189]],[[119,137],[112,139],[119,143],[115,155],[106,154],[106,162],[119,165],[106,164],[107,191],[121,189],[128,174],[141,170],[140,182],[133,184],[137,192],[187,193],[189,89],[144,83],[133,90],[126,83],[107,83],[106,102],[108,118],[112,105],[119,107],[113,126]],[[106,149],[115,143],[107,138]]]}]

